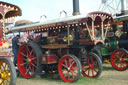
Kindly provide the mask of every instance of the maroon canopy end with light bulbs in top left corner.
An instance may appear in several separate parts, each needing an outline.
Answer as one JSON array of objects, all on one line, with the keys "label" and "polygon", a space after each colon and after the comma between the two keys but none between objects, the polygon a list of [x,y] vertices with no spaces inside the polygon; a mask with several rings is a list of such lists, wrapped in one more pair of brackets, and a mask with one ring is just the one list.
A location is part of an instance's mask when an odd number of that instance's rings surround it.
[{"label": "maroon canopy end with light bulbs in top left corner", "polygon": [[21,16],[21,9],[13,4],[0,1],[0,19]]}]

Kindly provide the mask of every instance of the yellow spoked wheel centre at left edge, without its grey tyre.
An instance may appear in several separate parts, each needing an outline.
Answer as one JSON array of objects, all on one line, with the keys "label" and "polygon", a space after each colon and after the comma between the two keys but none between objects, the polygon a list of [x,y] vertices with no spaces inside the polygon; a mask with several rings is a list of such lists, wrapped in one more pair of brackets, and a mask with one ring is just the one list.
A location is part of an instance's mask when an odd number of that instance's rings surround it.
[{"label": "yellow spoked wheel centre at left edge, without its grey tyre", "polygon": [[0,85],[9,85],[11,79],[10,68],[4,61],[0,61]]}]

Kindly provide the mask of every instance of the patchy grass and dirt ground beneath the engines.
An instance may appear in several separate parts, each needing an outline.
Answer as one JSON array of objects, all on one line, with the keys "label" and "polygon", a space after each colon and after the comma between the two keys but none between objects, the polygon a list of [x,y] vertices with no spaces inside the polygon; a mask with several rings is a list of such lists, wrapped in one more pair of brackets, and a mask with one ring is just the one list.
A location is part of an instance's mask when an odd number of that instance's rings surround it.
[{"label": "patchy grass and dirt ground beneath the engines", "polygon": [[24,79],[17,78],[16,85],[128,85],[128,69],[125,71],[116,71],[110,65],[104,65],[101,77],[90,79],[81,77],[75,83],[66,83],[61,79],[52,77]]}]

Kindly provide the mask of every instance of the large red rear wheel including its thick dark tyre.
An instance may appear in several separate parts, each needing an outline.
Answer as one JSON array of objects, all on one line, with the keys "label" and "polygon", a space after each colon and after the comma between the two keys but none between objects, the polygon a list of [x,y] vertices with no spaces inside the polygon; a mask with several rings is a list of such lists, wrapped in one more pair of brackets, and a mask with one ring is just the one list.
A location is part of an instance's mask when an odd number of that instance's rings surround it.
[{"label": "large red rear wheel including its thick dark tyre", "polygon": [[40,50],[34,43],[27,43],[20,47],[17,64],[21,75],[24,78],[31,78],[39,73]]}]

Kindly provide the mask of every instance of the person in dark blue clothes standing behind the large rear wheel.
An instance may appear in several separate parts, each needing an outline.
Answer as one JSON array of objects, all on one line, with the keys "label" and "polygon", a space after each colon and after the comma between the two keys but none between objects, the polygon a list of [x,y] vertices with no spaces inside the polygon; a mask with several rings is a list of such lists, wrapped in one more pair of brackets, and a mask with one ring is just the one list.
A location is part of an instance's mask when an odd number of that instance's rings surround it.
[{"label": "person in dark blue clothes standing behind the large rear wheel", "polygon": [[12,39],[12,51],[14,53],[14,59],[13,59],[13,63],[16,66],[17,63],[17,53],[19,50],[19,46],[21,46],[21,43],[19,42],[20,39],[20,35],[16,35],[13,39]]}]

